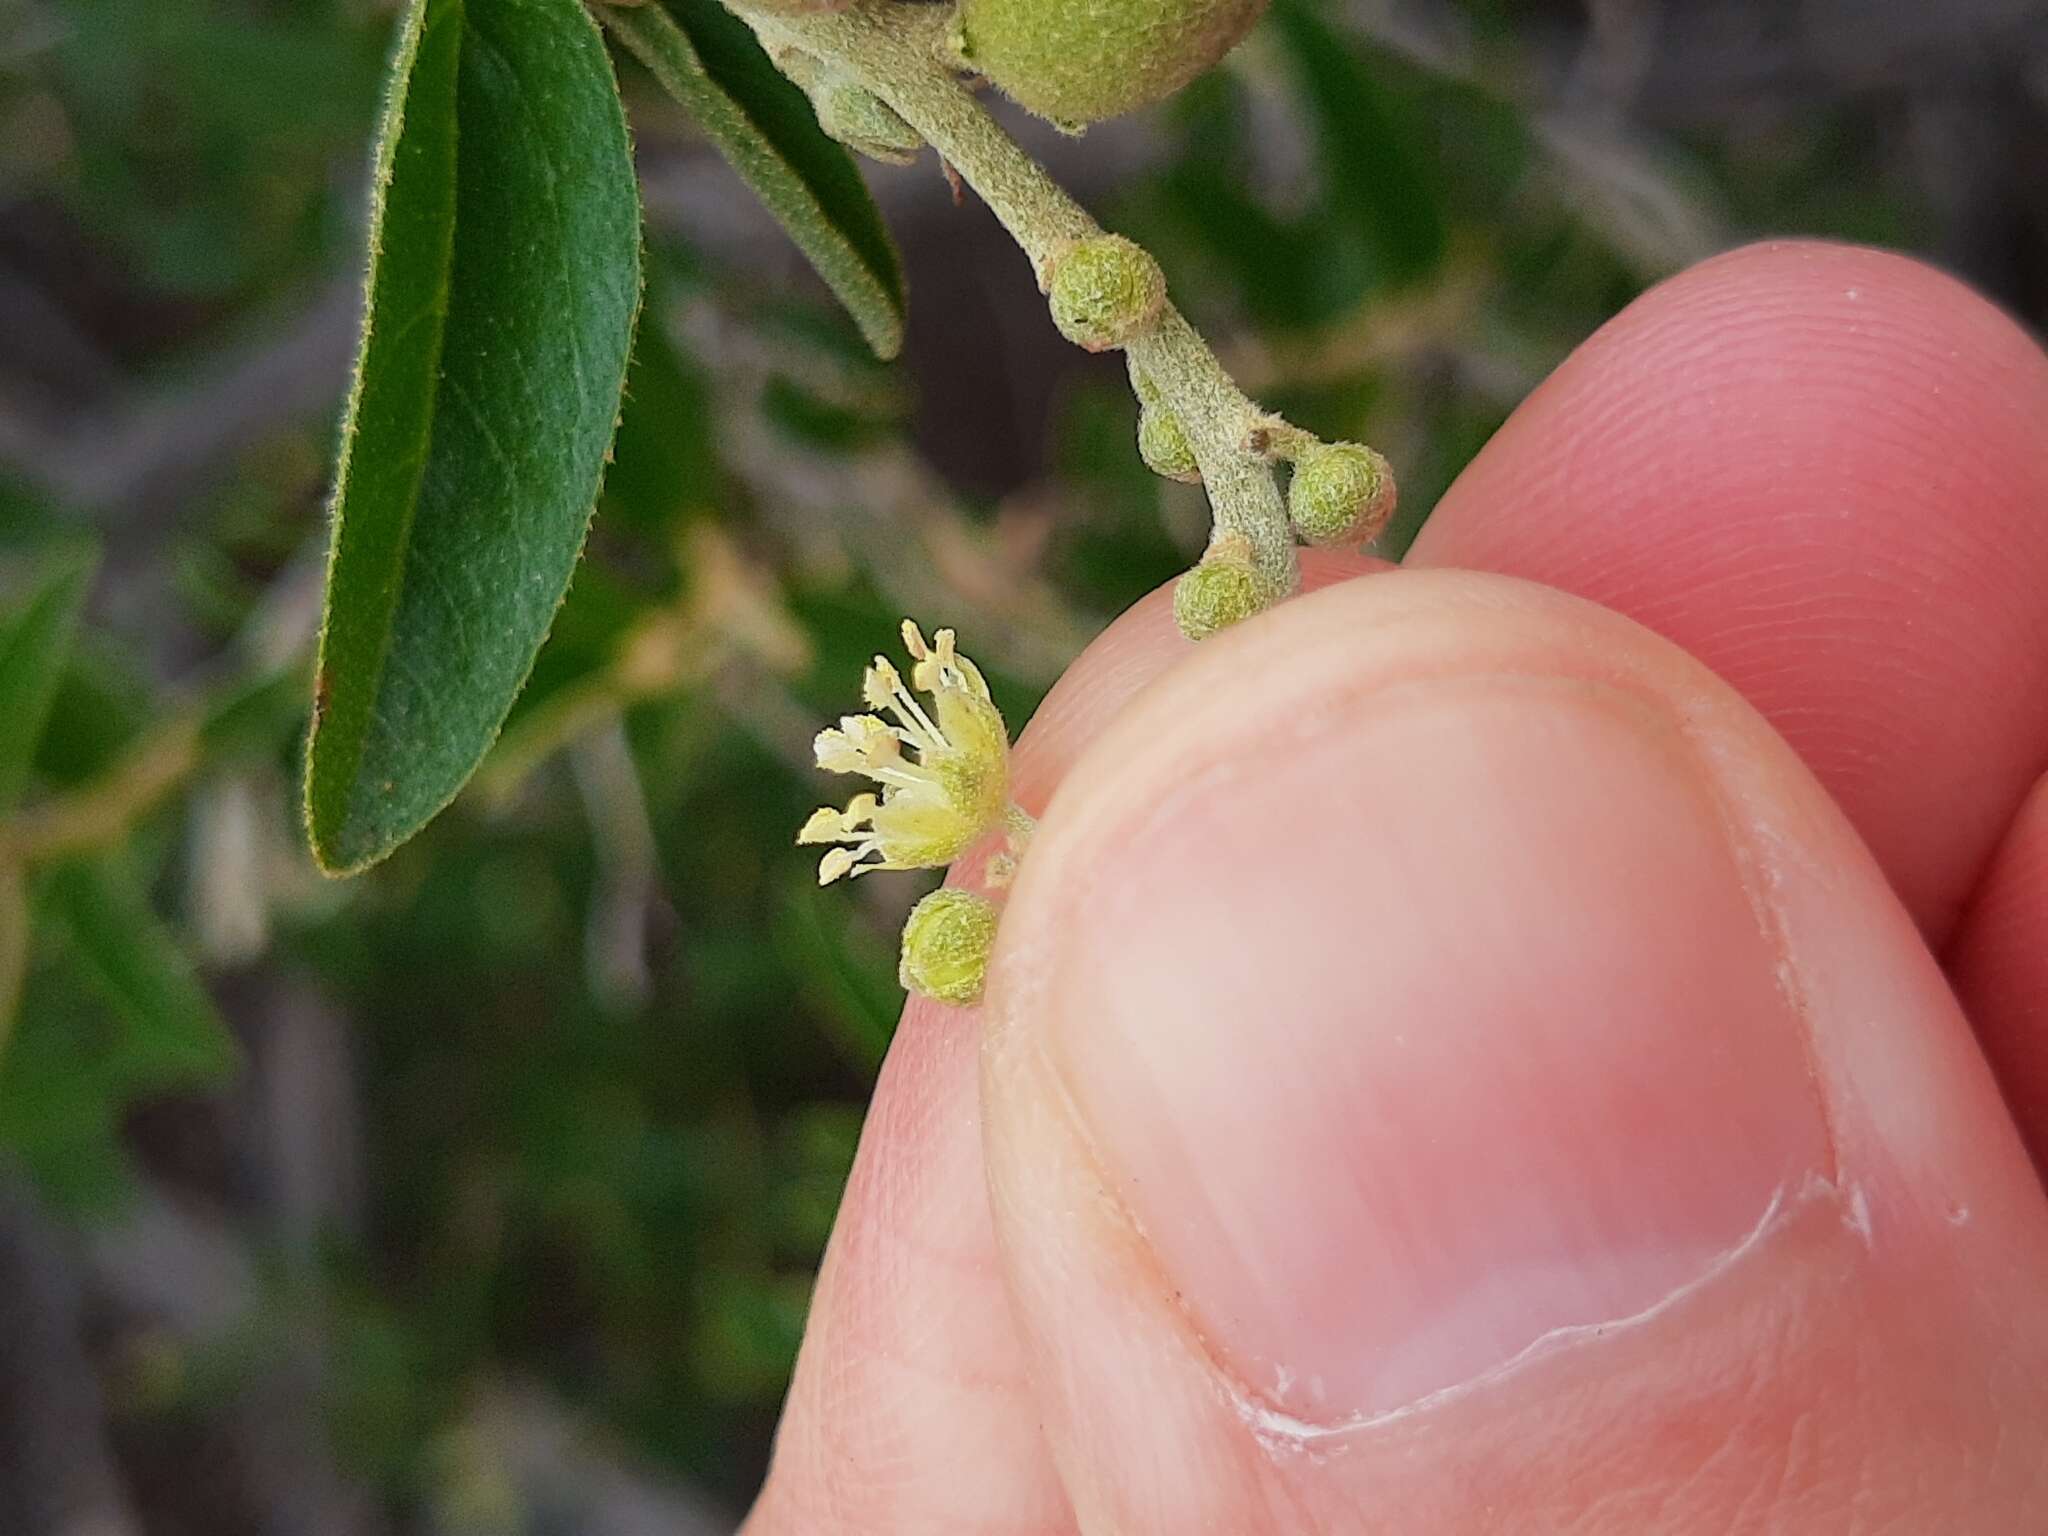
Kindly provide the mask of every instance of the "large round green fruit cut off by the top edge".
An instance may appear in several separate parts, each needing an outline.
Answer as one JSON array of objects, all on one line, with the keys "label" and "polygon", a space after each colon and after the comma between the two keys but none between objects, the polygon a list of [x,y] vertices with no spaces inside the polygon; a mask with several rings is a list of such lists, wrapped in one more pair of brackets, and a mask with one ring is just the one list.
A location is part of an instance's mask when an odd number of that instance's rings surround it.
[{"label": "large round green fruit cut off by the top edge", "polygon": [[954,47],[1055,123],[1165,100],[1237,47],[1266,0],[961,0]]}]

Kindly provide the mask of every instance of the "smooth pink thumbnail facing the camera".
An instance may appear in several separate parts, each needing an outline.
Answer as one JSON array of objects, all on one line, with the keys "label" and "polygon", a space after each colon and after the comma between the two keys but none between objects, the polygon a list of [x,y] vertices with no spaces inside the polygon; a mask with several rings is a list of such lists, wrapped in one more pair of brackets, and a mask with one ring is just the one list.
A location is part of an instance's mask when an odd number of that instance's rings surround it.
[{"label": "smooth pink thumbnail facing the camera", "polygon": [[1049,1049],[1245,1391],[1473,1382],[1829,1167],[1745,834],[1651,705],[1432,680],[1225,756],[1108,834]]}]

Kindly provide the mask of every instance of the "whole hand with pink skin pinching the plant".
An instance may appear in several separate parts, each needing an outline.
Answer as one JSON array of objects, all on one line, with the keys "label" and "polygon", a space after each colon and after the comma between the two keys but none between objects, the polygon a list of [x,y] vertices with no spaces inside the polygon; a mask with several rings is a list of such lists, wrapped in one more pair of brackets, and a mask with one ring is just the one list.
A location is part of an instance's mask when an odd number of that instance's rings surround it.
[{"label": "whole hand with pink skin pinching the plant", "polygon": [[750,1536],[2048,1530],[2044,422],[1966,289],[1751,248],[1409,561],[1542,586],[1112,625]]}]

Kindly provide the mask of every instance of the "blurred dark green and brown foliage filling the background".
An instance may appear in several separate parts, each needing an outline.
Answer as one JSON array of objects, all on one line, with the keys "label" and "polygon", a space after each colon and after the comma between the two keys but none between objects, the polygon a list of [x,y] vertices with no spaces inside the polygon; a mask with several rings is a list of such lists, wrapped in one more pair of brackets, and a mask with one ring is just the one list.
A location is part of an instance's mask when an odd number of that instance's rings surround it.
[{"label": "blurred dark green and brown foliage filling the background", "polygon": [[[633,70],[655,287],[590,557],[387,866],[299,836],[395,0],[0,0],[0,1530],[727,1530],[899,1008],[817,721],[903,612],[1028,717],[1192,561],[1114,362],[926,160],[897,367]],[[1642,287],[1757,233],[2048,311],[2042,0],[1276,0],[1055,172],[1399,553]],[[18,993],[18,1006],[8,1001]]]}]

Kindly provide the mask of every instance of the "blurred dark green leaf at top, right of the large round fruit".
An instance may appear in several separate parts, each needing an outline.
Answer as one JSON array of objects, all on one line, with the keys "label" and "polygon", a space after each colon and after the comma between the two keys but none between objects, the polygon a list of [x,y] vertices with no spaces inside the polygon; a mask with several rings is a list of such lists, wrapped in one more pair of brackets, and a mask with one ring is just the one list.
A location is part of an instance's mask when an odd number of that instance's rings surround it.
[{"label": "blurred dark green leaf at top, right of the large round fruit", "polygon": [[1448,244],[1444,209],[1395,98],[1305,0],[1276,4],[1274,23],[1315,115],[1331,211],[1350,223],[1382,283],[1427,276]]}]

